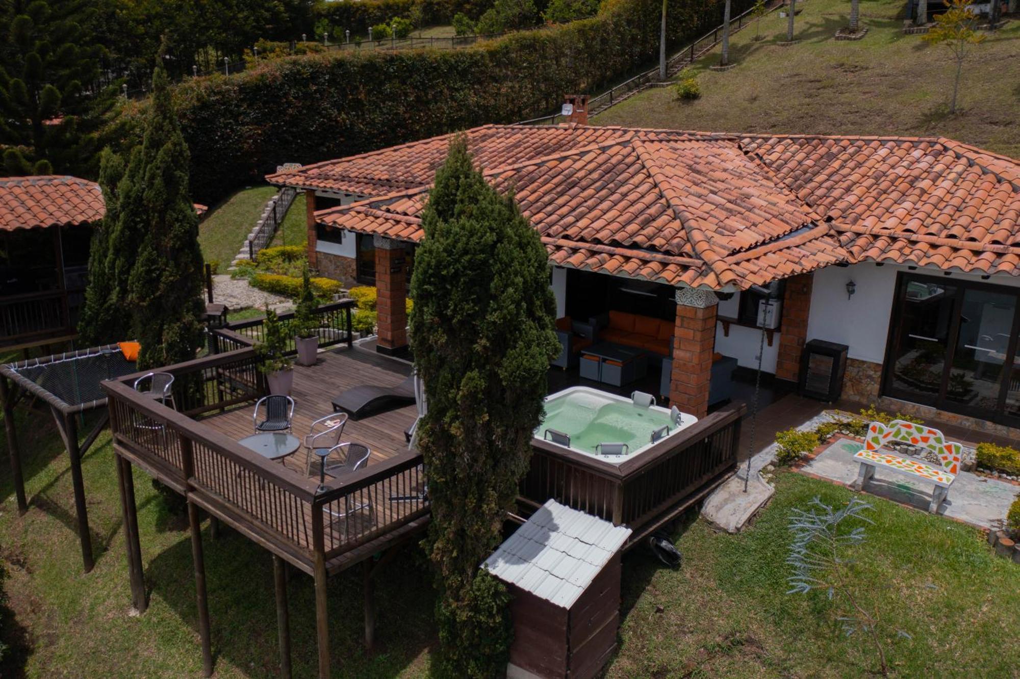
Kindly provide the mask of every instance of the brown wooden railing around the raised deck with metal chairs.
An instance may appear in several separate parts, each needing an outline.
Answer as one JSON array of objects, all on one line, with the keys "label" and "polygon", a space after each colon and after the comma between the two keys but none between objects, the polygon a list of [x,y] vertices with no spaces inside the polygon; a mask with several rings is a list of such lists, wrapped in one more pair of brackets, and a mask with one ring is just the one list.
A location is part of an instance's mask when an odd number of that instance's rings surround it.
[{"label": "brown wooden railing around the raised deck with metal chairs", "polygon": [[115,448],[307,572],[316,553],[333,559],[427,514],[418,454],[369,465],[342,483],[330,479],[323,490],[190,417],[264,395],[255,358],[246,348],[161,368],[174,375],[177,410],[135,391],[137,375],[103,382]]}]

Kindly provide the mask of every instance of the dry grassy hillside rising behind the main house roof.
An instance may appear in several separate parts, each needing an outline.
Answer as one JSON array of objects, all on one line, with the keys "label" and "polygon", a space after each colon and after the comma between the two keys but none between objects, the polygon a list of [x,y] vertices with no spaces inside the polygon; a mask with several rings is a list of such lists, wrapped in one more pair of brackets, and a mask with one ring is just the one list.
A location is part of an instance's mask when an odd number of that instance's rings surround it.
[{"label": "dry grassy hillside rising behind the main house roof", "polygon": [[960,106],[948,113],[955,69],[949,50],[904,36],[904,3],[862,0],[870,32],[859,42],[836,42],[847,22],[846,0],[798,3],[796,37],[779,47],[785,19],[761,21],[764,40],[749,27],[731,40],[738,65],[713,72],[715,49],[698,61],[702,98],[674,100],[671,88],[647,90],[596,116],[597,124],[711,132],[824,135],[942,136],[1020,157],[1020,21],[976,46],[964,64]]}]

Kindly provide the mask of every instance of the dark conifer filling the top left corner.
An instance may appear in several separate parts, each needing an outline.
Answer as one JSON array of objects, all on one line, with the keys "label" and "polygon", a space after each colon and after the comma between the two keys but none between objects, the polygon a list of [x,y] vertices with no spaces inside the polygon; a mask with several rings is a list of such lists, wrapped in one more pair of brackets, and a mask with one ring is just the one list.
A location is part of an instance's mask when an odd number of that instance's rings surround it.
[{"label": "dark conifer filling the top left corner", "polygon": [[7,0],[0,56],[0,144],[9,174],[93,174],[99,130],[116,102],[81,0]]}]

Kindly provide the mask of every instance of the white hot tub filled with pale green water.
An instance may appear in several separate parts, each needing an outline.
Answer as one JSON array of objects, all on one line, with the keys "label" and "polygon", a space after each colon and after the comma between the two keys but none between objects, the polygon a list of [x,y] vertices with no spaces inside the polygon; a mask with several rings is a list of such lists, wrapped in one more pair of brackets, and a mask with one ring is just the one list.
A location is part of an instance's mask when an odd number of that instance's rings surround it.
[{"label": "white hot tub filled with pale green water", "polygon": [[[570,436],[570,449],[607,462],[622,462],[651,448],[652,432],[669,426],[669,435],[698,421],[680,413],[677,425],[670,411],[659,406],[634,406],[630,399],[588,386],[571,386],[546,397],[546,417],[534,430],[543,438],[546,429]],[[626,443],[626,455],[601,455],[599,443]]]}]

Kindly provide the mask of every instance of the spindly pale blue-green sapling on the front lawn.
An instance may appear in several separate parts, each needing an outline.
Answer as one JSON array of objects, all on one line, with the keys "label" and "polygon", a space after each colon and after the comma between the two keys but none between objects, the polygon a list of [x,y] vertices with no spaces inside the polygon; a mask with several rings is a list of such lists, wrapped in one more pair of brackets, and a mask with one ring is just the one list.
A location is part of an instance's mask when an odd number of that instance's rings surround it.
[{"label": "spindly pale blue-green sapling on the front lawn", "polygon": [[[789,531],[794,541],[789,545],[786,563],[794,568],[794,574],[786,580],[790,584],[787,594],[807,594],[813,589],[824,590],[829,600],[842,603],[845,612],[836,616],[847,636],[866,632],[874,643],[875,652],[882,675],[888,674],[885,649],[879,636],[882,621],[877,607],[873,611],[865,608],[861,600],[860,588],[875,582],[874,578],[856,572],[857,562],[851,553],[865,540],[864,526],[853,526],[854,522],[873,524],[866,511],[872,510],[869,503],[860,498],[852,498],[845,507],[833,510],[817,497],[810,506],[819,511],[806,512],[794,509],[789,517]],[[911,638],[903,630],[900,636]]]}]

